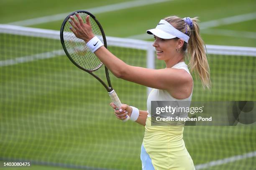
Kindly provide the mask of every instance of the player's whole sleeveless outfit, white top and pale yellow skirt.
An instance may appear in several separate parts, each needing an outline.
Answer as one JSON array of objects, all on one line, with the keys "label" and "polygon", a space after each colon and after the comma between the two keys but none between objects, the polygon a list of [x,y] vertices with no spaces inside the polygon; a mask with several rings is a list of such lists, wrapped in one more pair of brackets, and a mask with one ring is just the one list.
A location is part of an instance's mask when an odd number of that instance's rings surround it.
[{"label": "player's whole sleeveless outfit, white top and pale yellow skirt", "polygon": [[[184,69],[189,74],[185,62],[179,62],[172,68]],[[191,95],[186,99],[176,99],[166,90],[153,89],[148,95],[148,117],[145,125],[143,147],[150,156],[156,170],[195,170],[193,160],[190,157],[183,141],[184,124],[175,126],[151,125],[151,101],[191,101]],[[183,102],[184,103],[184,102]],[[189,107],[190,102],[187,107]],[[182,104],[181,104],[182,105]]]}]

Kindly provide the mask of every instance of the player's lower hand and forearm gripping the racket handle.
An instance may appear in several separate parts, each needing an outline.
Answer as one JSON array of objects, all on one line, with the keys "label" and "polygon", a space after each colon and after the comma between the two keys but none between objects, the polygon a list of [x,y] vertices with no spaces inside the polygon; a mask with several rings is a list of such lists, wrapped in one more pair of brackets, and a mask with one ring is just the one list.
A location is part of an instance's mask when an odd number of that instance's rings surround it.
[{"label": "player's lower hand and forearm gripping the racket handle", "polygon": [[[127,115],[131,117],[131,114],[133,111],[133,108],[131,106],[122,104],[122,106],[120,107],[120,110],[116,110],[117,107],[113,102],[110,103],[110,106],[114,109],[116,118],[120,120],[124,120],[126,119]],[[135,122],[145,126],[147,117],[148,117],[148,112],[146,110],[139,110],[138,119]]]}]

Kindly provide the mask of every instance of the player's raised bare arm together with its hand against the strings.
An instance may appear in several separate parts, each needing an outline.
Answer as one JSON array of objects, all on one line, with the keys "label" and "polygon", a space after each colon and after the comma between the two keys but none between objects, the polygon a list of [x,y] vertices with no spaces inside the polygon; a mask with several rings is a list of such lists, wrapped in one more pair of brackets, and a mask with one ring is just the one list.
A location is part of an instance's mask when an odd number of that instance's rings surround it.
[{"label": "player's raised bare arm together with its hand against the strings", "polygon": [[[73,26],[71,30],[76,37],[88,42],[94,37],[89,15],[86,18],[86,23],[83,23],[82,18],[78,14],[76,14],[76,16],[78,21],[75,20],[73,16],[70,17],[73,21],[71,22],[71,25]],[[187,72],[183,69],[167,68],[155,70],[128,65],[113,55],[104,46],[97,49],[95,55],[97,55],[100,61],[103,62],[116,77],[147,87],[172,90],[174,87],[187,83],[189,80],[187,78]]]}]

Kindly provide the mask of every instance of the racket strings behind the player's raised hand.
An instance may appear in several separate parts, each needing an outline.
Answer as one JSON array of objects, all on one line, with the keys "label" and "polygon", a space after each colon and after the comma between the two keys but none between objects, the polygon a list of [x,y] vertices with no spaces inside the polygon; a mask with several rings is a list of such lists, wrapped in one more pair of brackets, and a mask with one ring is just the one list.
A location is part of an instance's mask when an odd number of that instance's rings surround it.
[{"label": "racket strings behind the player's raised hand", "polygon": [[[85,23],[87,14],[79,13],[79,15]],[[75,15],[73,16],[75,17]],[[90,23],[94,35],[96,35],[103,42],[100,28],[98,27],[95,20],[90,18]],[[71,26],[72,25],[69,22],[66,22],[63,32],[65,46],[69,52],[70,57],[72,57],[72,60],[74,60],[74,62],[76,62],[80,67],[83,67],[86,70],[97,70],[102,65],[102,62],[100,62],[97,56],[90,51],[83,40],[77,38],[74,35],[74,33],[69,29]]]}]

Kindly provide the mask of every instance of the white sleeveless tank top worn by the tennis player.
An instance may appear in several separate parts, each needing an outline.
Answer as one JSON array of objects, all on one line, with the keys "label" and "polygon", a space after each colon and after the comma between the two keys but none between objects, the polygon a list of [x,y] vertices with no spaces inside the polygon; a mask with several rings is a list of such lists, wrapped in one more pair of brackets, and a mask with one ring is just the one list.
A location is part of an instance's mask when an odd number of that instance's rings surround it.
[{"label": "white sleeveless tank top worn by the tennis player", "polygon": [[[174,65],[172,68],[184,69],[190,74],[185,62],[179,62],[176,65]],[[152,89],[148,95],[148,100],[147,100],[148,117],[151,117],[151,101],[177,101],[177,102],[179,102],[179,101],[191,101],[191,99],[192,99],[192,92],[191,92],[190,96],[187,97],[186,99],[179,100],[179,99],[172,97],[172,95],[170,95],[170,93],[167,90]],[[190,102],[186,102],[186,103],[188,106],[184,106],[184,107],[189,107]],[[180,105],[183,105],[183,104],[184,104],[184,102],[181,103]],[[173,106],[173,107],[175,107],[175,106]]]}]

